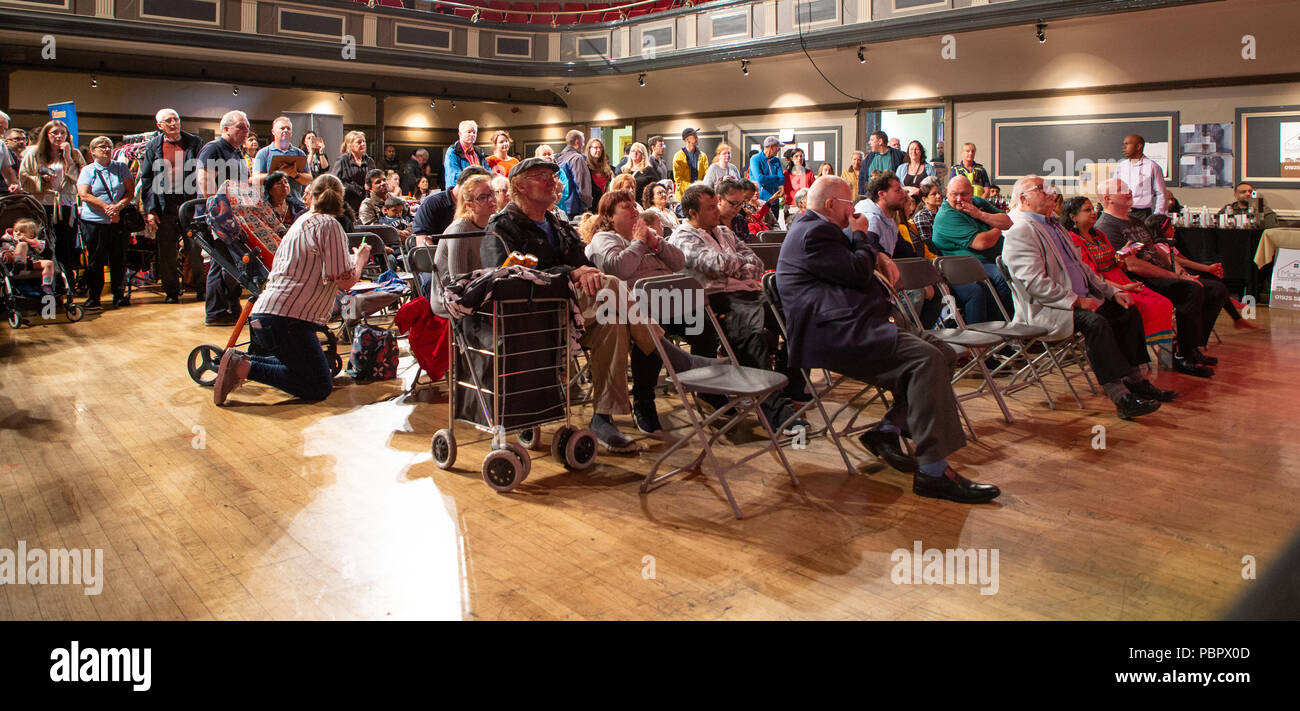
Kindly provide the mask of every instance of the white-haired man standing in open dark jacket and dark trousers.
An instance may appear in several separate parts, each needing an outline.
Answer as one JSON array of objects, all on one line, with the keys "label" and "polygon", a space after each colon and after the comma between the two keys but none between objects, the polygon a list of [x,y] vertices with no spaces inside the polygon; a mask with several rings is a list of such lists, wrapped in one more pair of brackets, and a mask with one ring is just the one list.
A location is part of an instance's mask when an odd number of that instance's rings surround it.
[{"label": "white-haired man standing in open dark jacket and dark trousers", "polygon": [[[164,302],[181,303],[181,270],[177,265],[177,240],[181,234],[179,208],[186,200],[199,196],[199,151],[203,139],[181,130],[181,114],[176,109],[159,109],[153,116],[159,135],[144,144],[140,156],[140,199],[146,221],[157,230],[157,276],[162,286]],[[205,298],[203,250],[198,242],[185,239],[185,253],[190,261],[190,286],[195,298]]]}]

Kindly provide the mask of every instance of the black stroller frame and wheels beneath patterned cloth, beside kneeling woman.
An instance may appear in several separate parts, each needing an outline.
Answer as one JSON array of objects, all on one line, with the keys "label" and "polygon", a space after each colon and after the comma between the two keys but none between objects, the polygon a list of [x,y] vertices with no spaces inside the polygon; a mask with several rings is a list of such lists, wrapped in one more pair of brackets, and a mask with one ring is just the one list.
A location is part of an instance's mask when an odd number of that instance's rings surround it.
[{"label": "black stroller frame and wheels beneath patterned cloth, beside kneeling woman", "polygon": [[[208,252],[208,256],[212,259],[212,269],[225,269],[250,294],[225,347],[204,343],[190,351],[190,357],[186,363],[190,378],[199,385],[211,386],[217,381],[217,368],[221,364],[221,355],[226,348],[247,346],[250,354],[265,354],[257,343],[252,341],[240,342],[239,337],[248,322],[248,315],[252,313],[254,302],[266,286],[270,269],[266,266],[265,247],[255,242],[256,238],[244,234],[242,230],[229,230],[228,234],[218,234],[209,225],[207,214],[200,214],[203,211],[203,199],[190,200],[181,205],[178,214],[181,229],[186,237],[198,240],[199,246]],[[231,256],[234,259],[230,259]],[[343,359],[338,354],[338,338],[326,328],[317,330],[321,348],[325,351],[325,357],[330,364],[330,372],[337,376],[343,370]]]}]

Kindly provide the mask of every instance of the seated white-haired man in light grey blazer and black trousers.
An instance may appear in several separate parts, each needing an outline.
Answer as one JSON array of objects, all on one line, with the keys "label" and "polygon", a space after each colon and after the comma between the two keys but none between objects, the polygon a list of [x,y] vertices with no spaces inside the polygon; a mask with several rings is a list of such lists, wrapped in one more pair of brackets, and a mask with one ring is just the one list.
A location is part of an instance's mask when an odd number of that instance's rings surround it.
[{"label": "seated white-haired man in light grey blazer and black trousers", "polygon": [[1011,229],[1002,260],[1015,281],[1015,321],[1050,329],[1052,339],[1083,334],[1097,380],[1115,403],[1121,420],[1160,409],[1176,393],[1152,385],[1139,365],[1150,361],[1141,315],[1127,292],[1102,279],[1079,253],[1056,218],[1056,190],[1039,175],[1017,181],[1011,191]]}]

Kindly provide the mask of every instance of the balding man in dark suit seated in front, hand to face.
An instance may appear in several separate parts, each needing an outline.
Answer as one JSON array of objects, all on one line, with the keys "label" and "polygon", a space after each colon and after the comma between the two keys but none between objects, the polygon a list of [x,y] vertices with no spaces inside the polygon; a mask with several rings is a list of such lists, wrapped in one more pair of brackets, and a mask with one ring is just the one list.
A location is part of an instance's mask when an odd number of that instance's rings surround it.
[{"label": "balding man in dark suit seated in front, hand to face", "polygon": [[[828,368],[893,393],[894,406],[862,443],[893,468],[914,472],[915,494],[992,500],[1001,494],[996,486],[948,465],[948,455],[966,445],[949,381],[956,352],[890,320],[889,290],[874,272],[893,282],[898,268],[867,229],[867,218],[853,212],[853,190],[844,178],[823,175],[812,183],[809,209],[790,225],[776,266],[790,365]],[[916,445],[915,460],[902,450],[904,432]]]}]

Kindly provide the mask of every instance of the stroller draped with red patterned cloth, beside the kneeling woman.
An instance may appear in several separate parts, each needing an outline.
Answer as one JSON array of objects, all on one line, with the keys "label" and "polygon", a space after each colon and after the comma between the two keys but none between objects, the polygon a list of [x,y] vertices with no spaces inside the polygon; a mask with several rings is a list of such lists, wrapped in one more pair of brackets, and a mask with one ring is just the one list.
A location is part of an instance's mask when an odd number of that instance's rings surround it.
[{"label": "stroller draped with red patterned cloth, beside the kneeling woman", "polygon": [[[224,183],[217,195],[207,200],[207,205],[203,199],[185,203],[181,205],[178,218],[186,237],[198,240],[203,251],[208,252],[212,268],[225,269],[250,294],[224,348],[205,343],[190,351],[186,361],[190,378],[199,385],[211,386],[217,381],[217,367],[226,348],[248,346],[250,354],[266,354],[259,343],[240,342],[239,337],[248,322],[248,315],[252,313],[254,302],[270,277],[270,265],[276,257],[276,247],[280,246],[282,227],[256,190],[234,182]],[[324,326],[317,330],[330,372],[337,376],[343,369],[343,359],[338,355],[338,339]]]}]

